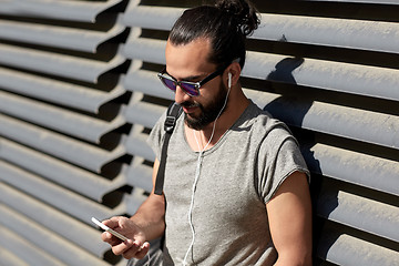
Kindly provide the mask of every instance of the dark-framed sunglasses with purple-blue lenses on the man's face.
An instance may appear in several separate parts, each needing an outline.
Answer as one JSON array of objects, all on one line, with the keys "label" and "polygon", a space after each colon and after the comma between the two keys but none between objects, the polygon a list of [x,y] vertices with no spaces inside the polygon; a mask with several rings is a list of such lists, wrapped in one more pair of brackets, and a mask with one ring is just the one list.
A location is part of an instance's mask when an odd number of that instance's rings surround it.
[{"label": "dark-framed sunglasses with purple-blue lenses on the man's face", "polygon": [[205,79],[198,82],[191,82],[191,81],[177,81],[175,78],[170,75],[166,72],[166,66],[163,71],[161,71],[157,76],[160,78],[161,82],[170,90],[176,91],[176,86],[178,85],[187,95],[190,96],[200,96],[200,88],[204,85],[206,82],[215,79],[216,76],[223,74],[226,68],[222,68],[216,70]]}]

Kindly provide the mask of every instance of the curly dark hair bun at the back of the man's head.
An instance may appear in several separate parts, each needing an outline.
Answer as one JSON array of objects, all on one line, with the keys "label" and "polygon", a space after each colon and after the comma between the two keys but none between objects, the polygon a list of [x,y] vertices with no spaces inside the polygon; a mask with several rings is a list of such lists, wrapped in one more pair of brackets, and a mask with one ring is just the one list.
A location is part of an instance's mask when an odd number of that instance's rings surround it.
[{"label": "curly dark hair bun at the back of the man's head", "polygon": [[253,34],[260,23],[258,12],[249,1],[218,0],[215,7],[231,14],[235,19],[238,30],[245,37]]}]

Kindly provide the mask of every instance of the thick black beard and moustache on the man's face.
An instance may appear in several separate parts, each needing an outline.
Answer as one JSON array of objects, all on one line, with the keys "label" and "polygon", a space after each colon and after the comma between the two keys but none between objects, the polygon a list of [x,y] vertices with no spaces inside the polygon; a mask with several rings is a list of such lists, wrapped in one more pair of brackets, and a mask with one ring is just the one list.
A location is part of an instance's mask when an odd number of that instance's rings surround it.
[{"label": "thick black beard and moustache on the man's face", "polygon": [[[209,123],[214,122],[221,113],[224,102],[226,101],[226,96],[227,96],[227,89],[223,84],[223,82],[221,82],[219,92],[216,94],[214,99],[212,99],[209,103],[201,104],[196,101],[183,102],[181,104],[182,106],[196,106],[200,108],[201,110],[201,113],[197,116],[193,116],[192,114],[186,114],[186,113],[184,114],[184,121],[187,124],[187,126],[190,129],[200,131],[203,130]],[[224,108],[222,113],[226,110],[226,108]]]}]

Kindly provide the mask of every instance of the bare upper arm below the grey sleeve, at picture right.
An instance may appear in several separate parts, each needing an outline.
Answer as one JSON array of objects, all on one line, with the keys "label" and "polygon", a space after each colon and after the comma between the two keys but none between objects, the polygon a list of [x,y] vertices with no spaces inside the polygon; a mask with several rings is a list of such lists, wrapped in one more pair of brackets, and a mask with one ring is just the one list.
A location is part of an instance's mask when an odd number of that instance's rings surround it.
[{"label": "bare upper arm below the grey sleeve, at picture right", "polygon": [[266,204],[276,266],[311,265],[311,202],[307,177],[295,172]]}]

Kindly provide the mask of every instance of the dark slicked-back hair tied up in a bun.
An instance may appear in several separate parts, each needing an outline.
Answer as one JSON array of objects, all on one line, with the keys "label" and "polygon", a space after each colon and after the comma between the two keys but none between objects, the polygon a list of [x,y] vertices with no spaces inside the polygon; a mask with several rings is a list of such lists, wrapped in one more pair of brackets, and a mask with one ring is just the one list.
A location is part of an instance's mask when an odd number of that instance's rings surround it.
[{"label": "dark slicked-back hair tied up in a bun", "polygon": [[245,40],[259,24],[255,7],[245,0],[218,0],[215,6],[201,6],[185,10],[173,25],[168,40],[184,45],[197,38],[212,43],[209,62],[218,68],[239,58],[245,63]]}]

